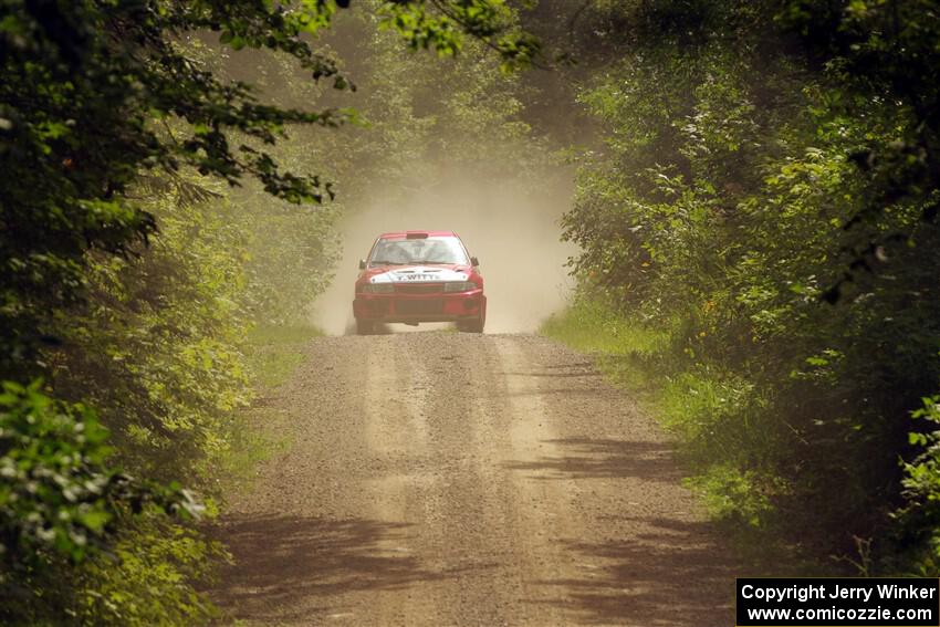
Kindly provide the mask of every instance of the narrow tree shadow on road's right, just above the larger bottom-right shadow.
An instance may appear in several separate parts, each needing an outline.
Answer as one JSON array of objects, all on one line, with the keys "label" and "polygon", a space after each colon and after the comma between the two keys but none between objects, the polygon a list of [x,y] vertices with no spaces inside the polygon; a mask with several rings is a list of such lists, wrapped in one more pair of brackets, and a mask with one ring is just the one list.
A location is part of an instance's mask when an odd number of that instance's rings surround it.
[{"label": "narrow tree shadow on road's right, just above the larger bottom-right shadow", "polygon": [[586,438],[543,441],[563,454],[503,466],[546,480],[641,477],[646,481],[676,483],[682,478],[672,459],[672,449],[666,443]]}]

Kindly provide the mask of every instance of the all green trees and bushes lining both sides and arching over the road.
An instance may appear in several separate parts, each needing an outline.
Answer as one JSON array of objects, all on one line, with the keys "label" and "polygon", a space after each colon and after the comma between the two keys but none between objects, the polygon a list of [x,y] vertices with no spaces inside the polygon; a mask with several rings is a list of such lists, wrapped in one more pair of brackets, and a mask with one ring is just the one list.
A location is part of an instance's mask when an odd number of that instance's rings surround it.
[{"label": "all green trees and bushes lining both sides and arching over the road", "polygon": [[[714,512],[940,569],[936,2],[348,4],[0,0],[0,621],[212,619],[252,328],[344,202],[531,180],[533,126],[578,148],[577,332],[661,375]],[[579,64],[501,74],[519,15]]]}]

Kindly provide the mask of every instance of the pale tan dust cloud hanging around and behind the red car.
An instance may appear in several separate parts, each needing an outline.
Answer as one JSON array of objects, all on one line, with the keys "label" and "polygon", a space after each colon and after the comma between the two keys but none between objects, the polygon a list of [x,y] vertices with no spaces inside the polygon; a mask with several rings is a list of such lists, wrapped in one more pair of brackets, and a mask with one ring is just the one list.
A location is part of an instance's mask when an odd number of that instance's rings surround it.
[{"label": "pale tan dust cloud hanging around and behind the red car", "polygon": [[[564,306],[573,286],[565,262],[575,248],[558,239],[558,218],[572,197],[571,173],[555,170],[539,189],[491,184],[438,182],[410,190],[403,200],[376,197],[351,208],[341,224],[343,255],[330,289],[314,304],[314,323],[330,335],[351,332],[358,260],[379,233],[449,230],[480,259],[487,333],[534,331]],[[446,326],[421,324],[419,330]],[[396,324],[390,330],[412,327]]]}]

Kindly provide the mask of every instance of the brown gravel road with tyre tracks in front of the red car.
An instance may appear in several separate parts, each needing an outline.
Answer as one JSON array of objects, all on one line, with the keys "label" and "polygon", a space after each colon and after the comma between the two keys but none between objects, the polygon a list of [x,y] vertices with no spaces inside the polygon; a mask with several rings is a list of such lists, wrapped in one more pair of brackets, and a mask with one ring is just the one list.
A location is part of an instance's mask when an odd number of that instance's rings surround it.
[{"label": "brown gravel road with tyre tracks in front of the red car", "polygon": [[549,339],[326,337],[269,403],[216,594],[248,625],[734,624],[668,439]]}]

